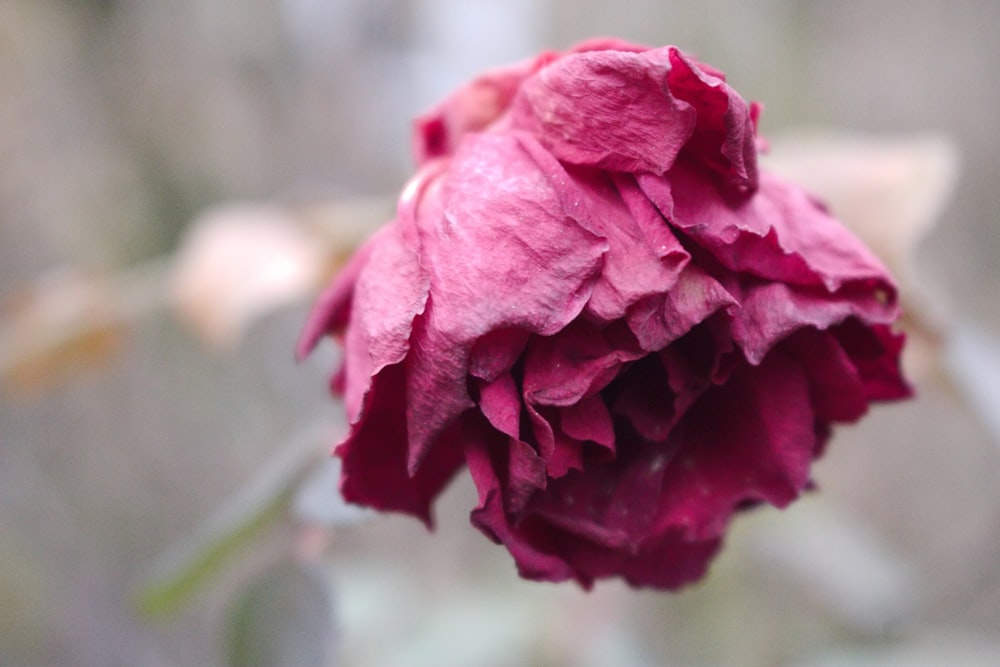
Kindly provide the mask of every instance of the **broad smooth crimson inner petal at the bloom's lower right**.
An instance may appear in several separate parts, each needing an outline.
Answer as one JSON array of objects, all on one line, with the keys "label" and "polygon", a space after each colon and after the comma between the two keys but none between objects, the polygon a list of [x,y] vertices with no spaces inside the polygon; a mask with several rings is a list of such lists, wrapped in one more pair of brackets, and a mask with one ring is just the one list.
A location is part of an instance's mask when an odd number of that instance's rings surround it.
[{"label": "broad smooth crimson inner petal at the bloom's lower right", "polygon": [[801,365],[776,350],[709,390],[674,427],[680,450],[667,467],[655,532],[719,537],[733,509],[763,500],[784,507],[805,488],[815,415]]}]

